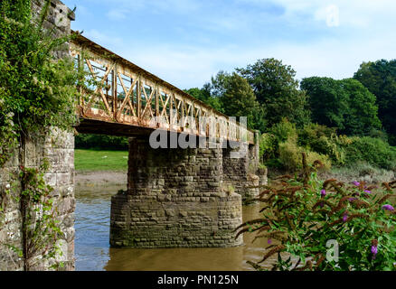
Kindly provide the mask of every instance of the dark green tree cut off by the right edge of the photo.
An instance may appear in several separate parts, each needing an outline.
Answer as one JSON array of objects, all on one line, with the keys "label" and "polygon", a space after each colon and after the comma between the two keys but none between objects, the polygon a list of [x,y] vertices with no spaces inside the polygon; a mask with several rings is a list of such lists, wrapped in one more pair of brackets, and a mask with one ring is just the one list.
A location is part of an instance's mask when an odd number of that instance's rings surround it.
[{"label": "dark green tree cut off by the right edge of the photo", "polygon": [[391,143],[396,144],[396,60],[363,62],[354,79],[376,96],[378,117],[390,134]]}]

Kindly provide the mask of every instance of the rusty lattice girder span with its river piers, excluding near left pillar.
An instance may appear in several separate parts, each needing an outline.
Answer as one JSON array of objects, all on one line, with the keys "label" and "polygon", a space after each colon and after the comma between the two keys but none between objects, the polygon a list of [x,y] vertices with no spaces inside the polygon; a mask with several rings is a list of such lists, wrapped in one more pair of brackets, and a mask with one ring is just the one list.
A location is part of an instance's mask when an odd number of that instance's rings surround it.
[{"label": "rusty lattice girder span with its river piers, excluding near left pillar", "polygon": [[237,246],[241,200],[254,198],[255,132],[154,74],[74,33],[88,71],[79,133],[129,137],[127,191],[111,200],[110,244]]}]

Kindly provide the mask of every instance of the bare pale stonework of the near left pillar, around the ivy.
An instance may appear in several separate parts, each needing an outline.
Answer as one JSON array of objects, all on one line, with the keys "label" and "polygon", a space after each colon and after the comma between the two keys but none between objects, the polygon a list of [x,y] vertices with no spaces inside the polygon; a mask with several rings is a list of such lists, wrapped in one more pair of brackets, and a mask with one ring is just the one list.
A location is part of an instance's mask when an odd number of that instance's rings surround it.
[{"label": "bare pale stonework of the near left pillar, around the ivy", "polygon": [[[42,1],[33,0],[33,11],[38,14]],[[70,33],[71,20],[74,15],[60,1],[53,1],[50,17],[45,27],[59,24],[56,34]],[[61,21],[61,24],[60,24]],[[64,50],[57,51],[57,56],[65,56]],[[27,136],[24,144],[14,150],[14,155],[3,168],[0,168],[0,203],[5,210],[0,218],[0,270],[24,270],[25,260],[18,256],[10,246],[23,247],[21,203],[21,182],[18,174],[20,166],[38,168],[43,159],[50,163],[45,180],[55,189],[54,208],[58,211],[58,219],[62,236],[57,241],[61,247],[63,270],[74,269],[74,136],[72,133],[52,129],[46,135]],[[31,270],[47,270],[52,261],[42,261],[40,256],[30,261]]]}]

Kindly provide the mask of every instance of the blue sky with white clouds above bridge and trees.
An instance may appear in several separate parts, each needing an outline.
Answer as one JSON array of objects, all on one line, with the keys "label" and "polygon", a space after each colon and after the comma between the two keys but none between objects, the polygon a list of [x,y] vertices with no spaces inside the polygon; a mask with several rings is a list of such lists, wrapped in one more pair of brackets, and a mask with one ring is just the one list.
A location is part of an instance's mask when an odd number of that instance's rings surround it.
[{"label": "blue sky with white clouds above bridge and trees", "polygon": [[394,0],[62,0],[71,29],[179,89],[275,58],[296,78],[351,78],[396,58]]}]

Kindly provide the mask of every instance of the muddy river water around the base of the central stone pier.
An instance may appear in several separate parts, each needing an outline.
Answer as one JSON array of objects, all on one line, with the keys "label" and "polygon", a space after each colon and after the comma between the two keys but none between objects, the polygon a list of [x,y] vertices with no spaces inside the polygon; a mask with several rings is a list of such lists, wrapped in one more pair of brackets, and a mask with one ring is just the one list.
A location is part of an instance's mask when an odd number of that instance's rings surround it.
[{"label": "muddy river water around the base of the central stone pier", "polygon": [[[253,270],[247,260],[259,261],[267,239],[227,248],[111,248],[109,247],[110,198],[125,186],[76,185],[76,270]],[[259,205],[243,207],[243,219],[259,218]]]}]

